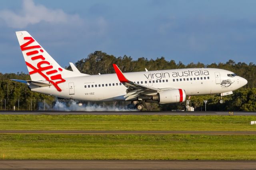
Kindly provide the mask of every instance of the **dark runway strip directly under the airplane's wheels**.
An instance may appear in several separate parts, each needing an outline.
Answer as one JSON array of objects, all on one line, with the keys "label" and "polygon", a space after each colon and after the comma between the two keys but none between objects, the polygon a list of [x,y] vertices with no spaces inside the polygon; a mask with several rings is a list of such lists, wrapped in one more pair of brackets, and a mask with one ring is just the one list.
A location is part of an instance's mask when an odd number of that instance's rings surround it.
[{"label": "dark runway strip directly under the airplane's wheels", "polygon": [[256,112],[239,111],[0,111],[1,115],[256,115]]}]

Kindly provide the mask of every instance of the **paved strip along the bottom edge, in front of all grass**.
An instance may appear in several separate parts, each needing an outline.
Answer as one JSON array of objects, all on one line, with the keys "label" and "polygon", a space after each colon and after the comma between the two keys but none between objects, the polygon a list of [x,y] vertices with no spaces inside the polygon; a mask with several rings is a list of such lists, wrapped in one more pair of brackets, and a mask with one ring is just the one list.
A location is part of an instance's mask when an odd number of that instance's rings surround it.
[{"label": "paved strip along the bottom edge, in front of all grass", "polygon": [[226,160],[0,160],[1,170],[252,170],[256,161]]}]

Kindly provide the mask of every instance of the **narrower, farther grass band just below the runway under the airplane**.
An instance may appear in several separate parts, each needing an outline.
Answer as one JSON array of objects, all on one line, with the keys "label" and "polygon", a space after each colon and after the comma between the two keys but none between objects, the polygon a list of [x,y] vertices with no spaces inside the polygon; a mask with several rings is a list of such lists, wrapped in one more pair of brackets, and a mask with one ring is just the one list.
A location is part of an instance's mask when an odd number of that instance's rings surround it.
[{"label": "narrower, farther grass band just below the runway under the airplane", "polygon": [[256,116],[0,115],[0,130],[240,130]]}]

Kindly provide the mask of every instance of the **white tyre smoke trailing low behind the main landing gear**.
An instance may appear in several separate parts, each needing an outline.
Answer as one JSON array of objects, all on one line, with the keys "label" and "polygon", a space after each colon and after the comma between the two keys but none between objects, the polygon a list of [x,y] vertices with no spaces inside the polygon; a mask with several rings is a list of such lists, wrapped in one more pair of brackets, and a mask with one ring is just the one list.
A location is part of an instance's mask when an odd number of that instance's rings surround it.
[{"label": "white tyre smoke trailing low behind the main landing gear", "polygon": [[126,106],[116,106],[116,105],[98,105],[94,104],[82,104],[77,101],[60,102],[56,101],[53,106],[56,111],[138,111],[137,109],[128,109]]}]

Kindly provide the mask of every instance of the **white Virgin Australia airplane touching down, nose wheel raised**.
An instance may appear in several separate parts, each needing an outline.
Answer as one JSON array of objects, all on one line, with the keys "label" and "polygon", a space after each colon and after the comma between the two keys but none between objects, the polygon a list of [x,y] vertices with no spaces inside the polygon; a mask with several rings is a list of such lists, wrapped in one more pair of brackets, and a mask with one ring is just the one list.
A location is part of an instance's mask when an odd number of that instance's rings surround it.
[{"label": "white Virgin Australia airplane touching down, nose wheel raised", "polygon": [[31,91],[62,99],[80,101],[129,101],[128,108],[143,109],[144,102],[180,103],[186,96],[231,95],[247,84],[235,73],[216,68],[169,69],[122,73],[113,64],[114,74],[80,73],[73,63],[72,71],[61,67],[26,31],[16,32],[31,80],[16,80]]}]

